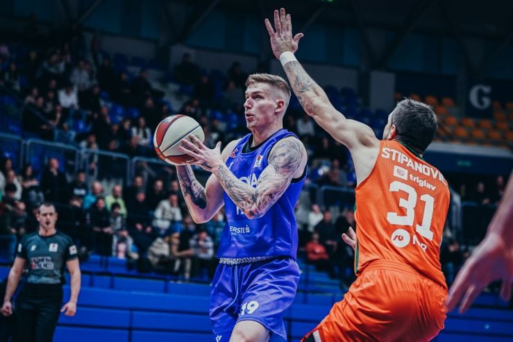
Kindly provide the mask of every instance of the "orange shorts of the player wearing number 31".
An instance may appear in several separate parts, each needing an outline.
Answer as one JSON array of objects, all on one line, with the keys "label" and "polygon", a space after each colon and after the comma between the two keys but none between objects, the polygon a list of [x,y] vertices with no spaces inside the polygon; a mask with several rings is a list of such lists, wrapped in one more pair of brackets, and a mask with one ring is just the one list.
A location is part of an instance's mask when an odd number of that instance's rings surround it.
[{"label": "orange shorts of the player wearing number 31", "polygon": [[378,260],[301,341],[430,341],[444,328],[446,296],[413,268]]}]

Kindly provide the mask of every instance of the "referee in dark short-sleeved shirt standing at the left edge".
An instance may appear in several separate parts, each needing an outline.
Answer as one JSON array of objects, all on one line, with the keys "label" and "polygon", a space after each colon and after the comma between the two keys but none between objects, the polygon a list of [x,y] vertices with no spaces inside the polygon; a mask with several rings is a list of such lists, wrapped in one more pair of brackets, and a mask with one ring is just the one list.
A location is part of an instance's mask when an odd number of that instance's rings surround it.
[{"label": "referee in dark short-sleeved shirt standing at the left edge", "polygon": [[[3,298],[2,314],[10,316],[10,300],[23,269],[28,266],[26,282],[17,298],[19,324],[13,341],[19,342],[51,342],[59,311],[66,316],[74,316],[81,286],[76,246],[70,237],[56,231],[56,208],[51,203],[42,203],[36,218],[39,230],[27,234],[19,243]],[[72,294],[61,309],[65,264],[71,275]]]}]

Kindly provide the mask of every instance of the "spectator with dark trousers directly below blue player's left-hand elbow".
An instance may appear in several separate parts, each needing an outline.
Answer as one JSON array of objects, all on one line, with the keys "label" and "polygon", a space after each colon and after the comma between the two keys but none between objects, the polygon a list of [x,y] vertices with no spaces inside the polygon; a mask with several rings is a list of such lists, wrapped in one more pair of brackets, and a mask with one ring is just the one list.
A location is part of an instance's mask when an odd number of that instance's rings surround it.
[{"label": "spectator with dark trousers directly below blue player's left-hand elbow", "polygon": [[198,230],[190,241],[192,249],[192,274],[201,279],[212,279],[214,262],[214,242],[204,229]]}]

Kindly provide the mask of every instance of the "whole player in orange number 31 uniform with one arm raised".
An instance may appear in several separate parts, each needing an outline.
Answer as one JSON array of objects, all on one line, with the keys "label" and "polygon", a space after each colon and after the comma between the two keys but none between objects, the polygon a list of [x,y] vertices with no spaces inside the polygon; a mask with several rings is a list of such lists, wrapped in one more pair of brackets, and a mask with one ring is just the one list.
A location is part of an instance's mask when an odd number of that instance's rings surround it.
[{"label": "whole player in orange number 31 uniform with one arm raised", "polygon": [[437,131],[424,103],[405,99],[383,139],[346,119],[294,57],[301,33],[282,8],[271,47],[305,112],[351,152],[357,187],[355,273],[344,300],[302,341],[430,341],[444,327],[447,287],[439,262],[449,205],[444,176],[422,159]]}]

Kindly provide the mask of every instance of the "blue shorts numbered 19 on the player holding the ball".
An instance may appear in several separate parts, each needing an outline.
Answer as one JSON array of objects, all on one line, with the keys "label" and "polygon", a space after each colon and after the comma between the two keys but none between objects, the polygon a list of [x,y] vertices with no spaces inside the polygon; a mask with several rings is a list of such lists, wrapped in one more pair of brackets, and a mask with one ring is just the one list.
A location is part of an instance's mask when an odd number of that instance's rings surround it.
[{"label": "blue shorts numbered 19 on the player holding the ball", "polygon": [[290,257],[219,264],[210,296],[212,341],[228,341],[241,320],[254,320],[271,332],[273,340],[279,336],[287,341],[283,312],[296,297],[298,281],[299,267]]}]

